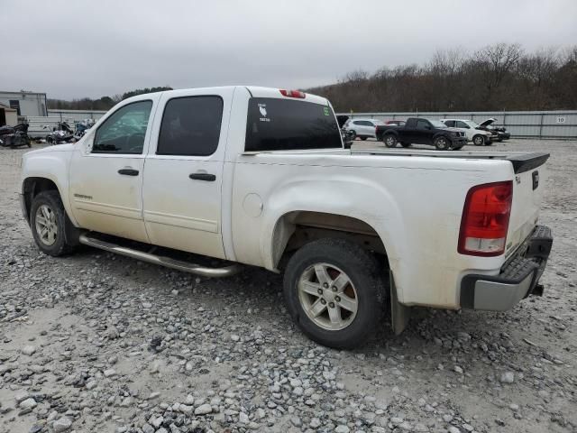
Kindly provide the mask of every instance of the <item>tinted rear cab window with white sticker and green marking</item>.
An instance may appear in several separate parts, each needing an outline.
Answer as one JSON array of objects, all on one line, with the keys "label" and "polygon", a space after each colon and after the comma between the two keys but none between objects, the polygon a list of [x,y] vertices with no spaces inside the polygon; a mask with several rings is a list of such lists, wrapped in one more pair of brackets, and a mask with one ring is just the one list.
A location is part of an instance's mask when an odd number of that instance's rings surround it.
[{"label": "tinted rear cab window with white sticker and green marking", "polygon": [[246,152],[342,148],[330,106],[274,97],[252,97]]}]

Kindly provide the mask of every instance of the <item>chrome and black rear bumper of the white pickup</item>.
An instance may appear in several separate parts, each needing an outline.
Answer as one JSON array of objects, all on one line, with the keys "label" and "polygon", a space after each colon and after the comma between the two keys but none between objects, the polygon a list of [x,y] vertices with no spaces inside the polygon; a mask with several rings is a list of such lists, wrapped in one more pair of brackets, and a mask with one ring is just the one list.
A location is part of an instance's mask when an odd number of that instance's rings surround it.
[{"label": "chrome and black rear bumper of the white pickup", "polygon": [[506,311],[531,294],[541,295],[539,279],[545,265],[553,235],[546,226],[536,226],[517,252],[508,259],[499,275],[470,274],[461,282],[461,307]]}]

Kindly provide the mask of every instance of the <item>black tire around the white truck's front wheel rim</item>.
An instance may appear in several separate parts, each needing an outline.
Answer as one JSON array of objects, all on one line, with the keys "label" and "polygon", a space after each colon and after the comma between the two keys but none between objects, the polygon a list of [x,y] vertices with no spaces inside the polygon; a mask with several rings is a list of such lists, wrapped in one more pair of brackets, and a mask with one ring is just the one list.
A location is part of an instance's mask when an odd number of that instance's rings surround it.
[{"label": "black tire around the white truck's front wheel rim", "polygon": [[[50,212],[53,212],[53,221],[57,227],[54,241],[51,244],[47,243],[50,242],[50,240],[47,242],[43,241],[41,239],[41,234],[38,233],[41,225],[37,224],[37,214],[40,212],[42,217],[41,207],[43,206],[48,207]],[[38,245],[38,248],[40,248],[42,253],[58,257],[72,252],[74,247],[67,243],[65,235],[67,217],[68,216],[66,215],[58,191],[42,191],[32,199],[32,207],[30,209],[30,227],[32,229],[34,242]]]}]

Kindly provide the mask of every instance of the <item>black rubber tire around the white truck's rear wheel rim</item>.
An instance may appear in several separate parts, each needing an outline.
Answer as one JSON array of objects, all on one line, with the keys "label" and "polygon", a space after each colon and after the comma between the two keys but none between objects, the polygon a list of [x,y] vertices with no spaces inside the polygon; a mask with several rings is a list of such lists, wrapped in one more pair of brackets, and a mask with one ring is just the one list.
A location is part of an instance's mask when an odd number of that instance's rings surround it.
[{"label": "black rubber tire around the white truck's rear wheel rim", "polygon": [[[345,289],[338,293],[333,292],[333,290],[329,291],[327,285],[324,286],[326,288],[324,291],[321,290],[324,294],[316,295],[318,301],[325,299],[325,297],[328,299],[324,302],[325,307],[322,307],[324,308],[323,312],[317,316],[319,319],[323,316],[322,319],[327,320],[325,316],[328,316],[331,304],[333,304],[333,312],[336,311],[339,317],[342,314],[347,314],[347,309],[339,307],[338,301],[341,299],[338,294],[343,296],[343,293],[347,295],[353,293],[354,298],[352,299],[356,299],[356,314],[353,318],[351,318],[352,315],[345,318],[350,322],[337,330],[322,327],[309,318],[301,301],[301,297],[312,296],[312,299],[315,299],[315,295],[301,293],[299,281],[307,273],[311,274],[312,266],[320,263],[336,272],[336,276],[334,276],[327,271],[326,274],[334,279],[330,284],[336,281],[336,277],[340,275],[334,268],[344,272],[352,283],[344,286]],[[334,268],[330,268],[331,266]],[[314,272],[313,278],[316,278],[316,272],[314,270],[312,272]],[[321,287],[320,280],[313,284],[318,284],[319,288]],[[351,349],[362,345],[377,329],[380,318],[385,311],[384,302],[387,298],[387,287],[380,263],[373,254],[363,250],[358,244],[335,238],[320,239],[300,248],[290,258],[284,276],[285,301],[289,313],[298,327],[317,343],[336,349]],[[353,292],[347,290],[353,290]],[[331,296],[334,297],[336,304],[330,302]],[[328,320],[332,322],[330,318]]]}]

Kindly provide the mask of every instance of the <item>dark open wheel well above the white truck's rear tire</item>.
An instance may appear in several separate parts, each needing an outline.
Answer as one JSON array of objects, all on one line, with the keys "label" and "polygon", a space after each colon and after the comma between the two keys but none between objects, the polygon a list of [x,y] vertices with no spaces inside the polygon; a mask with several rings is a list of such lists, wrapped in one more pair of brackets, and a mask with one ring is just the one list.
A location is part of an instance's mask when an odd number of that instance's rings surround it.
[{"label": "dark open wheel well above the white truck's rear tire", "polygon": [[387,255],[380,236],[360,219],[325,212],[295,211],[285,214],[277,222],[273,236],[274,263],[283,267],[298,248],[326,237],[347,239],[373,253]]}]

